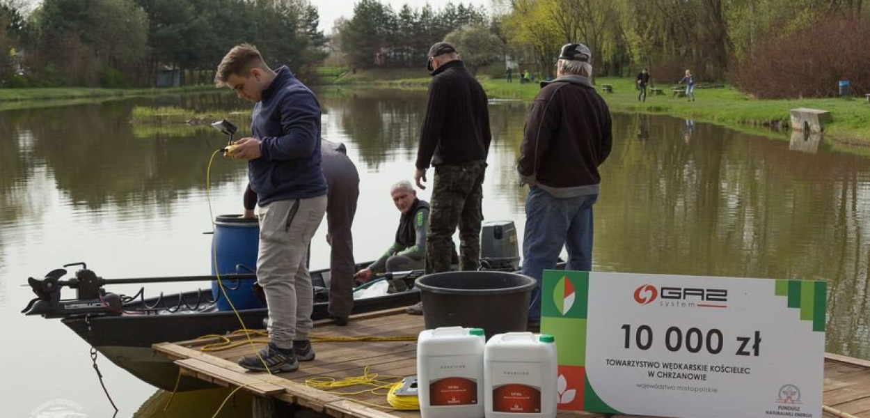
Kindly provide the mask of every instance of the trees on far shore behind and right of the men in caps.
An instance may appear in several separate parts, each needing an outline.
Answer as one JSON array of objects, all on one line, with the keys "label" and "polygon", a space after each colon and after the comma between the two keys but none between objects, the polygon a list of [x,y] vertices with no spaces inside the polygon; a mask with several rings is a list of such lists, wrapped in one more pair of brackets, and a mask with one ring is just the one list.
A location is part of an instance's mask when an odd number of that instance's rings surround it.
[{"label": "trees on far shore behind and right of the men in caps", "polygon": [[[514,70],[552,77],[561,45],[582,42],[592,49],[598,75],[633,76],[646,67],[653,82],[675,83],[686,69],[702,81],[734,81],[751,74],[757,54],[771,45],[799,43],[830,21],[867,25],[868,1],[493,0],[485,13],[461,4],[439,12],[405,5],[396,12],[380,0],[361,0],[336,32],[345,57],[363,68],[424,64],[428,46],[447,38],[458,40],[460,54],[475,64],[512,58],[493,64],[493,75],[504,73],[502,63],[513,63],[522,67]],[[463,37],[463,31],[474,35]],[[826,38],[843,46],[837,51],[861,53],[847,48],[849,37]],[[766,71],[767,81],[783,78]]]}]

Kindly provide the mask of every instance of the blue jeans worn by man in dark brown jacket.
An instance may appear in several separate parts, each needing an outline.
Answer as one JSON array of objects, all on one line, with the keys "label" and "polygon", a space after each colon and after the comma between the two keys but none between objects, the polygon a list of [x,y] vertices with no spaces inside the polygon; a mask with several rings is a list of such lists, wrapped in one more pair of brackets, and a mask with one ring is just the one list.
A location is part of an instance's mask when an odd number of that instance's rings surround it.
[{"label": "blue jeans worn by man in dark brown jacket", "polygon": [[525,198],[522,273],[538,281],[532,291],[529,323],[541,319],[541,283],[544,269],[556,268],[562,246],[568,250],[568,270],[592,270],[592,205],[598,194],[555,198],[532,186]]}]

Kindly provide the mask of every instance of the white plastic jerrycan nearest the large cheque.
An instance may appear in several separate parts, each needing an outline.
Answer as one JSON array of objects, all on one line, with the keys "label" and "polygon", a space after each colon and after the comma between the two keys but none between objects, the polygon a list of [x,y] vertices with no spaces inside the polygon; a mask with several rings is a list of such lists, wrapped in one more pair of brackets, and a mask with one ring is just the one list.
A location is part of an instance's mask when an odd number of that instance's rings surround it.
[{"label": "white plastic jerrycan nearest the large cheque", "polygon": [[493,335],[484,350],[486,418],[555,417],[556,372],[552,335]]}]

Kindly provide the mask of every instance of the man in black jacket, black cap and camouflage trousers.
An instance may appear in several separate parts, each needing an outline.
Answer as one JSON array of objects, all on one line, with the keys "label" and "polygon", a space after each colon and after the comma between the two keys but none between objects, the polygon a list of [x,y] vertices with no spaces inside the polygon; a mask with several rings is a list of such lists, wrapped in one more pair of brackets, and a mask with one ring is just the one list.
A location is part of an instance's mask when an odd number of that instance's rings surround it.
[{"label": "man in black jacket, black cap and camouflage trousers", "polygon": [[[426,169],[432,179],[429,233],[426,237],[426,273],[450,270],[452,235],[459,227],[459,266],[480,265],[480,223],[486,156],[489,153],[489,110],[486,93],[465,70],[452,44],[438,42],[429,49],[429,102],[417,151],[414,180],[425,189]],[[412,314],[422,309],[412,307]]]}]

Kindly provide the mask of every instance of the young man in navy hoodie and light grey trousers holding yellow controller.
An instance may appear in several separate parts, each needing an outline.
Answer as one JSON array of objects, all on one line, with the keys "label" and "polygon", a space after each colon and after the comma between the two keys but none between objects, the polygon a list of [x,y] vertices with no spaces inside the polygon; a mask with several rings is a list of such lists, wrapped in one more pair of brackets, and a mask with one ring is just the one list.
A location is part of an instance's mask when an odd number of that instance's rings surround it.
[{"label": "young man in navy hoodie and light grey trousers holding yellow controller", "polygon": [[256,47],[233,47],[218,65],[218,87],[255,103],[251,137],[241,138],[232,158],[248,160],[257,192],[257,281],[269,313],[269,345],[241,358],[249,370],[292,372],[314,360],[308,339],[314,294],[306,254],[326,212],[326,179],[320,167],[320,104],[286,66],[273,71]]}]

